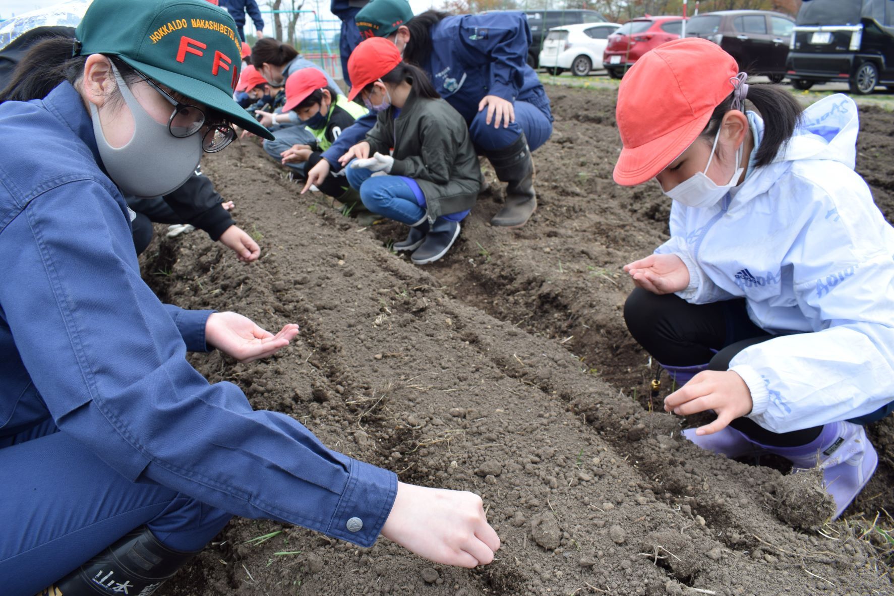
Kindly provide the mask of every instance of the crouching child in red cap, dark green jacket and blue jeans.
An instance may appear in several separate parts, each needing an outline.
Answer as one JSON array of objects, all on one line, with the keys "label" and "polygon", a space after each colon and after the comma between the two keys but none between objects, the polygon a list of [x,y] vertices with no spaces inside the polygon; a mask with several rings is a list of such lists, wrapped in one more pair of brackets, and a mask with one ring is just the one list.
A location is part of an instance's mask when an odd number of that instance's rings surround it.
[{"label": "crouching child in red cap, dark green jacket and blue jeans", "polygon": [[373,213],[409,225],[394,250],[413,251],[415,264],[433,263],[453,246],[482,188],[466,122],[386,38],[361,42],[348,71],[349,98],[360,95],[378,113],[366,140],[339,160],[350,164],[350,186]]}]

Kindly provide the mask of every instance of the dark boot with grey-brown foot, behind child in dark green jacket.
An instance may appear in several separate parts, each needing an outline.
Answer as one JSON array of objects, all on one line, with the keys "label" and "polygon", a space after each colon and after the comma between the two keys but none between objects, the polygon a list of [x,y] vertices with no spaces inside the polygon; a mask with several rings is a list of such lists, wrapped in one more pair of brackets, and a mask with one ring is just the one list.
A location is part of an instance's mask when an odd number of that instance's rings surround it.
[{"label": "dark boot with grey-brown foot, behind child in dark green jacket", "polygon": [[491,219],[491,225],[518,228],[525,225],[537,208],[534,192],[534,160],[527,148],[525,133],[509,147],[486,154],[497,178],[506,185],[506,204]]}]

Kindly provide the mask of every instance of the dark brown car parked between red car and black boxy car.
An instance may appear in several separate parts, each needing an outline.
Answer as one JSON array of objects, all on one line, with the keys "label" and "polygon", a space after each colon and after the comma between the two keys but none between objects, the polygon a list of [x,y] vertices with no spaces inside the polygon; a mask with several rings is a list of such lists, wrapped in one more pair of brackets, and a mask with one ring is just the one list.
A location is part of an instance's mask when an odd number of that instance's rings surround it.
[{"label": "dark brown car parked between red car and black boxy car", "polygon": [[718,11],[689,19],[686,37],[710,39],[736,59],[740,70],[778,83],[786,76],[792,29],[795,21],[782,13]]}]

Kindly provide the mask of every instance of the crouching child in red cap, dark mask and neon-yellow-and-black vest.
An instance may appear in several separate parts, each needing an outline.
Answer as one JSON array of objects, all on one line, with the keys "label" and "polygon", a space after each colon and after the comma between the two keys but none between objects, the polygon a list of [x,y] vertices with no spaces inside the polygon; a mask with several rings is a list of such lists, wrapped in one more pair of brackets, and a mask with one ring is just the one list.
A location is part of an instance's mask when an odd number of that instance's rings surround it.
[{"label": "crouching child in red cap, dark mask and neon-yellow-and-black vest", "polygon": [[[283,113],[290,111],[298,114],[299,124],[314,135],[316,144],[292,145],[281,154],[283,165],[305,164],[308,169],[319,163],[323,152],[338,139],[342,130],[367,114],[367,108],[328,87],[325,75],[316,68],[292,72],[285,81]],[[350,188],[344,176],[330,173],[316,187],[348,205],[358,200],[357,191]]]}]

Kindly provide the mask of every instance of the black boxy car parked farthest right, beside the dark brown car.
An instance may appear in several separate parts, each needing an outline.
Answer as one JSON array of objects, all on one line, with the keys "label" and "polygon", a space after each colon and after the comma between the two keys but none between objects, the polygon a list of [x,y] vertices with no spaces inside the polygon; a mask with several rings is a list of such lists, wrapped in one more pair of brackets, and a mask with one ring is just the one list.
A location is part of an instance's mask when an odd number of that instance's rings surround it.
[{"label": "black boxy car parked farthest right, beside the dark brown car", "polygon": [[809,0],[796,21],[786,62],[795,88],[847,80],[860,95],[894,90],[894,2]]}]

